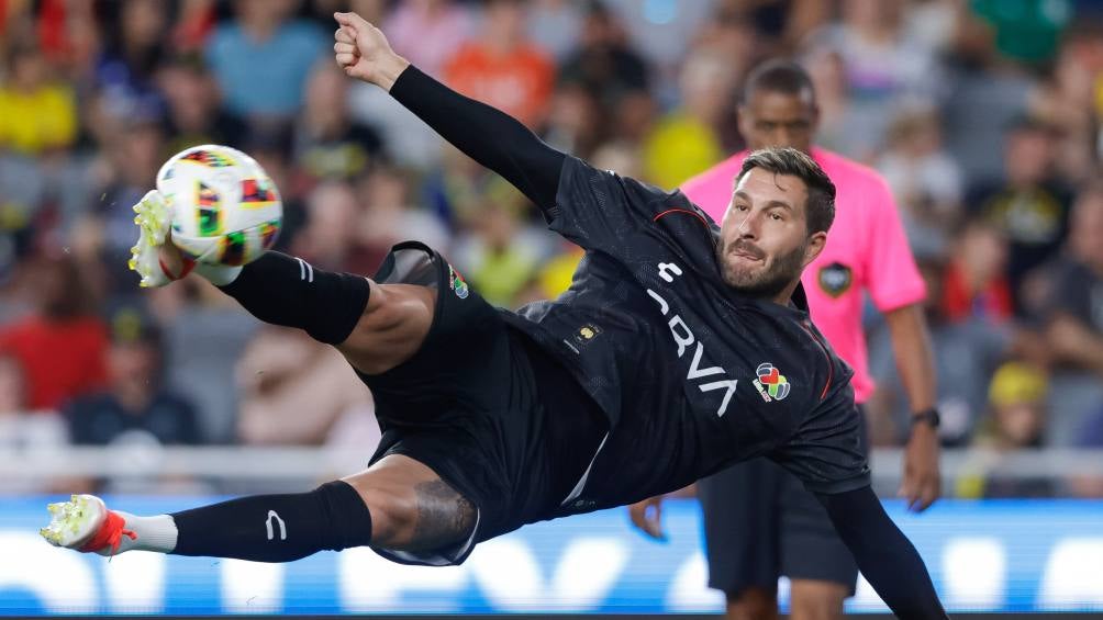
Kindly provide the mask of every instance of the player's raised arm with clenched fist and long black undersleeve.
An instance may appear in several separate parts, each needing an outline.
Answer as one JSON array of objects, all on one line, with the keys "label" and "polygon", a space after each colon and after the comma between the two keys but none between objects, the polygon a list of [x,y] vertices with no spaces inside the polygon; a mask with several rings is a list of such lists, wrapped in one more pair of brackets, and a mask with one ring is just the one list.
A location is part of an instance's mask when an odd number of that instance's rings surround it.
[{"label": "player's raised arm with clenched fist and long black undersleeve", "polygon": [[542,210],[555,206],[565,155],[505,112],[469,99],[396,54],[356,13],[335,13],[334,58],[345,74],[387,90],[445,140],[501,174]]}]

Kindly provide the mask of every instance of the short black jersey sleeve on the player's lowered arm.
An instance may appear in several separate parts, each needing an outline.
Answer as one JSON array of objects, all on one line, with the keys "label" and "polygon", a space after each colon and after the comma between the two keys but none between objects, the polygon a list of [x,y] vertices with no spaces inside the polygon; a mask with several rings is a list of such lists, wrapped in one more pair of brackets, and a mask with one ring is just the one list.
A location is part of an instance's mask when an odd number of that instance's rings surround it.
[{"label": "short black jersey sleeve on the player's lowered arm", "polygon": [[868,486],[864,421],[849,381],[831,388],[789,440],[769,456],[815,493],[844,493]]}]

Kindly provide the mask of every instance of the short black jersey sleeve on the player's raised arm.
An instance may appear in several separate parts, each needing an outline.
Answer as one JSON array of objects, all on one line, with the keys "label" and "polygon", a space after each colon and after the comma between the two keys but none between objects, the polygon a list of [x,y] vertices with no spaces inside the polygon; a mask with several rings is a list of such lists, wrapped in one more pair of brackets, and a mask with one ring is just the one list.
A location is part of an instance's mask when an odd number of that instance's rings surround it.
[{"label": "short black jersey sleeve on the player's raised arm", "polygon": [[567,156],[556,204],[545,211],[548,227],[583,249],[611,249],[665,214],[681,211],[711,226],[708,216],[679,192],[600,171]]}]

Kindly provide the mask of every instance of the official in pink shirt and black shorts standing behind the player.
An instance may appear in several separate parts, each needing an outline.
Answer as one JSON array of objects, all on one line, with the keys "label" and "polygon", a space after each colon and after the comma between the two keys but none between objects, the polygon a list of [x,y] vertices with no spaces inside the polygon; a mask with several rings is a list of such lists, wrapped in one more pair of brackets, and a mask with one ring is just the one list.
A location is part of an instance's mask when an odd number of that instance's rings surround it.
[{"label": "official in pink shirt and black shorts standing behind the player", "polygon": [[[863,291],[884,313],[897,367],[914,412],[900,496],[914,511],[940,493],[934,365],[921,309],[927,291],[888,184],[871,168],[812,145],[818,110],[808,75],[771,61],[747,79],[739,130],[750,150],[793,146],[818,163],[837,188],[835,224],[823,253],[802,278],[812,318],[854,368],[855,401],[874,391],[861,327]],[[682,191],[716,221],[731,203],[732,180],[748,151],[736,153]],[[777,618],[778,578],[791,580],[795,620],[842,618],[858,569],[824,509],[791,474],[764,458],[700,480],[709,587],[727,595],[730,620]],[[632,507],[632,520],[661,536],[661,498]]]}]

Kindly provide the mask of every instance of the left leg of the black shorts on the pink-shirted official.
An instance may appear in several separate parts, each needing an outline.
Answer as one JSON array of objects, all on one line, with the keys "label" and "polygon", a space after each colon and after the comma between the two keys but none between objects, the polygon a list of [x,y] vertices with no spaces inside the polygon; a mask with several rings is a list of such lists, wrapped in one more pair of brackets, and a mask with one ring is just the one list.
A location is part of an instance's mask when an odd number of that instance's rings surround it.
[{"label": "left leg of the black shorts on the pink-shirted official", "polygon": [[738,463],[697,483],[705,521],[708,585],[738,596],[774,591],[780,570],[780,467],[764,458]]}]

